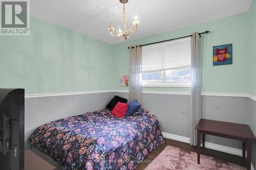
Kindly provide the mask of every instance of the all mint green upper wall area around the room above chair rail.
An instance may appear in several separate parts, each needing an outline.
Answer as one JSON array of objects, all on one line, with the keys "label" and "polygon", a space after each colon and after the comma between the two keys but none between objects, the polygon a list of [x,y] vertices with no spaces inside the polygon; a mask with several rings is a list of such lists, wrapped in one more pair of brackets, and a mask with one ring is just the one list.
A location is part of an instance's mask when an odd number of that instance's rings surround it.
[{"label": "all mint green upper wall area around the room above chair rail", "polygon": [[[127,89],[119,87],[129,70],[127,46],[210,30],[202,36],[202,91],[256,95],[255,4],[248,13],[117,45],[31,17],[30,36],[0,36],[0,88],[25,88],[26,94]],[[226,43],[233,44],[233,64],[212,66],[212,46]]]}]

